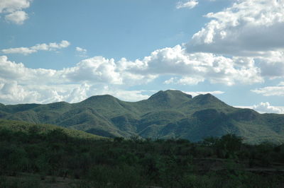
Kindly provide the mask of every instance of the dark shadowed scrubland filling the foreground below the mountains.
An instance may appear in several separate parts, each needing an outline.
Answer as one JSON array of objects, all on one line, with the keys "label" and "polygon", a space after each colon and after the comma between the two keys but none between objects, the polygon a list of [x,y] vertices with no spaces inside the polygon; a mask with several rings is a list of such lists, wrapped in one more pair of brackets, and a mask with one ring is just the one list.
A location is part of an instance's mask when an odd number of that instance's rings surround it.
[{"label": "dark shadowed scrubland filling the foreground below the mountains", "polygon": [[[284,185],[284,145],[250,146],[234,134],[199,143],[138,137],[94,139],[40,127],[2,122],[0,187],[43,187],[40,182],[48,176],[55,183],[58,177],[69,178],[75,187]],[[38,177],[17,181],[23,172]]]}]

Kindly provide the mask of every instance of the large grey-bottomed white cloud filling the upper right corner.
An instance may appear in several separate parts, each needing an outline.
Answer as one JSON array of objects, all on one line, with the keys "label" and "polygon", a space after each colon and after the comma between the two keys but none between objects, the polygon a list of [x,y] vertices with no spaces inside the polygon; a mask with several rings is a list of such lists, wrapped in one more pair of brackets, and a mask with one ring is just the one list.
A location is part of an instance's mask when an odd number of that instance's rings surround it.
[{"label": "large grey-bottomed white cloud filling the upper right corner", "polygon": [[205,17],[212,20],[192,36],[188,52],[253,57],[284,48],[284,0],[239,0]]}]

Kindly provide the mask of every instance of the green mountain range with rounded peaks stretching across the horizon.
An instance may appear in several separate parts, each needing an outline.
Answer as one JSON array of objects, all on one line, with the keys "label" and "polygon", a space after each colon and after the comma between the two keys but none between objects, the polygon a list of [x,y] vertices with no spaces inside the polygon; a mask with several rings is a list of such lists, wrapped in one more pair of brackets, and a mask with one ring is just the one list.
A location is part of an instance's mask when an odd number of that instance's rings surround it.
[{"label": "green mountain range with rounded peaks stretching across the horizon", "polygon": [[0,118],[56,124],[109,137],[200,141],[231,133],[248,143],[284,143],[284,114],[259,114],[226,105],[211,94],[192,98],[179,90],[159,91],[138,102],[97,95],[73,104],[1,104]]}]

